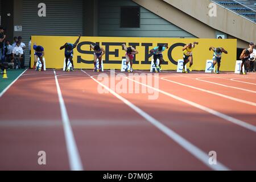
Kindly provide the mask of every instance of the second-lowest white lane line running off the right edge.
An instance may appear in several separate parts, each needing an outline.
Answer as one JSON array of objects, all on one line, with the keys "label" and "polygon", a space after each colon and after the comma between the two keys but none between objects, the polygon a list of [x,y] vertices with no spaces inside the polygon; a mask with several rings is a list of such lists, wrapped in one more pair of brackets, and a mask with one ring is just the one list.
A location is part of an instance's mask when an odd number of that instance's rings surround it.
[{"label": "second-lowest white lane line running off the right edge", "polygon": [[[159,77],[159,78],[160,78],[160,77]],[[241,102],[241,103],[243,103],[243,104],[248,104],[248,105],[256,106],[256,103],[255,103],[255,102],[250,102],[250,101],[241,100],[240,98],[235,98],[235,97],[226,96],[226,95],[221,94],[221,93],[217,93],[217,92],[213,92],[213,91],[210,91],[210,90],[201,89],[201,88],[198,88],[198,87],[195,87],[195,86],[191,86],[191,85],[187,85],[187,84],[181,84],[180,82],[168,80],[168,79],[166,79],[166,78],[169,78],[169,77],[162,77],[161,80],[165,80],[165,81],[168,81],[168,82],[173,82],[174,84],[178,84],[178,85],[182,85],[182,86],[187,86],[187,87],[192,88],[192,89],[196,89],[196,90],[200,90],[200,91],[202,91],[202,92],[207,92],[207,93],[210,93],[210,94],[213,94],[213,95],[216,95],[216,96],[228,98],[229,100]]]}]

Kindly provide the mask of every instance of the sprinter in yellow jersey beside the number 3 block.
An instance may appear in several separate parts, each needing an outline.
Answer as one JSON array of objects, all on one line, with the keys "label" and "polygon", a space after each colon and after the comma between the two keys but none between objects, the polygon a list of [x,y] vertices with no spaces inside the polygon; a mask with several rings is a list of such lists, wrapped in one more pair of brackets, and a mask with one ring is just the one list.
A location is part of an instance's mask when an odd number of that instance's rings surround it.
[{"label": "sprinter in yellow jersey beside the number 3 block", "polygon": [[183,70],[182,70],[183,73],[187,73],[185,71],[185,65],[188,63],[188,61],[189,61],[189,71],[192,72],[192,68],[191,68],[191,66],[193,65],[192,51],[196,47],[196,44],[199,44],[199,43],[198,42],[190,43],[184,46],[182,49],[182,51],[184,51],[184,55],[183,55],[184,63],[183,63]]}]

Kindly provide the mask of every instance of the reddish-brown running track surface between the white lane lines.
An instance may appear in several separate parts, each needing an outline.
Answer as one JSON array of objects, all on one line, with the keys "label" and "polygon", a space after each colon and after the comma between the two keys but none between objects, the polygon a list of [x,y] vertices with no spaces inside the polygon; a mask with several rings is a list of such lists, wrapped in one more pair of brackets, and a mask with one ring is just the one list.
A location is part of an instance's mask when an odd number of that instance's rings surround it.
[{"label": "reddish-brown running track surface between the white lane lines", "polygon": [[[97,78],[98,73],[86,72]],[[109,71],[105,73],[110,75]],[[85,170],[212,169],[113,94],[98,93],[97,82],[86,73],[56,74]],[[184,86],[255,104],[254,73],[240,76],[163,72],[155,76],[166,79],[159,78],[160,90],[256,126],[256,106]],[[119,95],[205,154],[216,151],[217,162],[226,168],[256,169],[255,131],[163,93],[157,100],[148,100],[151,94]],[[0,103],[0,169],[70,169],[53,71],[28,70],[3,94]],[[38,151],[42,150],[47,154],[46,166],[38,164]]]}]

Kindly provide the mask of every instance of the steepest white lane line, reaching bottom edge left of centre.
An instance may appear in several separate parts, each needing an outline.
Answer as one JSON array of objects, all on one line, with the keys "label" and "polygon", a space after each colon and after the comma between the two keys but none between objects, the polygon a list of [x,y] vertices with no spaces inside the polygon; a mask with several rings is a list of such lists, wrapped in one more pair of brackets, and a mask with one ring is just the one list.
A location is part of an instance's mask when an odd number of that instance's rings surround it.
[{"label": "steepest white lane line, reaching bottom edge left of centre", "polygon": [[66,146],[68,151],[69,166],[72,171],[82,171],[83,170],[82,162],[80,159],[79,151],[77,150],[77,145],[73,135],[72,127],[69,122],[68,112],[65,106],[65,102],[61,94],[59,81],[57,79],[56,72],[55,71],[53,72],[55,75],[56,88],[57,88],[57,93],[59,97],[61,118],[63,122],[63,129],[64,129]]}]

